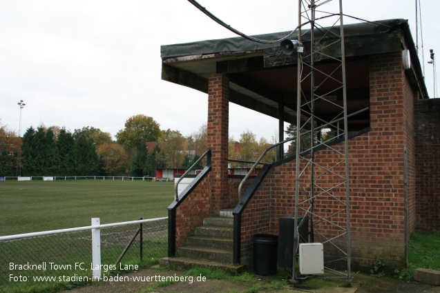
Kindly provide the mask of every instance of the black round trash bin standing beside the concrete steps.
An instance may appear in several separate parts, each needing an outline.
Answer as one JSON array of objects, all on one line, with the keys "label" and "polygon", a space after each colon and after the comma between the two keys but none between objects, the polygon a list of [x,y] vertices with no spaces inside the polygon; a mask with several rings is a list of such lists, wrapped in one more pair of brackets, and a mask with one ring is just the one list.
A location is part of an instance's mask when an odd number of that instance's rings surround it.
[{"label": "black round trash bin standing beside the concrete steps", "polygon": [[254,272],[260,276],[276,274],[278,259],[278,236],[255,234],[254,239]]}]

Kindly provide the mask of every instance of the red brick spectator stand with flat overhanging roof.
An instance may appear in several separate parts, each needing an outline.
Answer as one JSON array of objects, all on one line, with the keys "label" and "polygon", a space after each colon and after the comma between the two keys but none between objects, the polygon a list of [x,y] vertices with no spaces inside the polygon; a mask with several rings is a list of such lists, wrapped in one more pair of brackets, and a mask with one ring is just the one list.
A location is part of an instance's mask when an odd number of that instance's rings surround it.
[{"label": "red brick spectator stand with flat overhanging roof", "polygon": [[[410,233],[416,227],[440,228],[440,102],[428,97],[408,21],[344,28],[347,111],[368,108],[348,124],[352,264],[370,267],[381,258],[390,267],[403,267]],[[281,131],[284,122],[296,123],[296,85],[291,82],[296,80],[296,63],[280,54],[278,46],[241,37],[162,46],[162,79],[207,94],[211,150],[198,183],[169,207],[170,256],[204,218],[233,208],[232,261],[244,263],[254,234],[278,234],[280,217],[294,214],[294,157],[265,165],[256,178],[248,179],[242,205],[237,198],[242,178],[229,176],[227,169],[229,103],[276,117]],[[406,52],[410,65],[405,65]],[[335,70],[329,59],[318,65],[323,71]],[[332,99],[338,103],[341,93]],[[332,110],[316,108],[322,115]],[[343,148],[343,143],[335,141],[332,148]],[[314,156],[323,166],[337,159],[327,148]],[[338,188],[333,192],[338,194]],[[316,203],[323,216],[337,208],[337,202],[325,198]],[[338,221],[342,225],[345,219]],[[331,235],[332,228],[327,230]]]}]

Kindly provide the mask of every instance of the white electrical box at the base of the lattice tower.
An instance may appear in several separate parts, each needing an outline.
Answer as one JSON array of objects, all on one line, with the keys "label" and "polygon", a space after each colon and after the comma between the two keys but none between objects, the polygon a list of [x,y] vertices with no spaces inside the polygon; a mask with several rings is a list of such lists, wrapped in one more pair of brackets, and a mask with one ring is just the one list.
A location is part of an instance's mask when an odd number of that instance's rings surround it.
[{"label": "white electrical box at the base of the lattice tower", "polygon": [[323,243],[300,243],[300,274],[324,274]]}]

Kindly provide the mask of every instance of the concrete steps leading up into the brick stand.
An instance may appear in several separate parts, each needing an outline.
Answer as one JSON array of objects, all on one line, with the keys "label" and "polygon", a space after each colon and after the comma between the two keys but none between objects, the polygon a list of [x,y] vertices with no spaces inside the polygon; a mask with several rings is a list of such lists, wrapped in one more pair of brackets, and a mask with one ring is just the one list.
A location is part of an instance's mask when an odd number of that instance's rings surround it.
[{"label": "concrete steps leading up into the brick stand", "polygon": [[178,247],[178,257],[165,258],[161,265],[171,267],[220,266],[231,272],[239,272],[242,265],[233,263],[233,216],[232,210],[222,210],[220,216],[203,219],[188,236],[186,245]]}]

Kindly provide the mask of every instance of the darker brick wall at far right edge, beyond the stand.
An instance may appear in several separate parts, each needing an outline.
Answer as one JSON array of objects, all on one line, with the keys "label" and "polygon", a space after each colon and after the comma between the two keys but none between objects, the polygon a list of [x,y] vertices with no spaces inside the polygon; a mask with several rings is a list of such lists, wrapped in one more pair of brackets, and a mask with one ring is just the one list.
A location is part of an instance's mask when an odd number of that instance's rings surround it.
[{"label": "darker brick wall at far right edge, beyond the stand", "polygon": [[416,225],[440,230],[440,99],[414,105],[416,161]]}]

